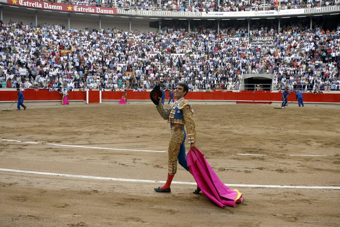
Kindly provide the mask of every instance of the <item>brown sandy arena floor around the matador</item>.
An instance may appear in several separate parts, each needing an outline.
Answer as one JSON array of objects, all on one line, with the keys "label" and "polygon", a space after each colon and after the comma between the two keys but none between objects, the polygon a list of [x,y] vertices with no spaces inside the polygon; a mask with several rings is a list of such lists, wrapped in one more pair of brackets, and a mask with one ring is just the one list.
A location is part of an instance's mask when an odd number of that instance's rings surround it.
[{"label": "brown sandy arena floor around the matador", "polygon": [[[26,105],[25,111],[0,111],[0,138],[137,150],[168,147],[170,126],[151,102]],[[197,146],[221,180],[339,187],[340,107],[274,106],[193,105]],[[329,156],[289,156],[296,154]],[[165,180],[167,153],[0,140],[0,168]],[[179,165],[174,181],[194,179]],[[340,225],[337,189],[238,187],[243,203],[221,209],[204,194],[192,194],[194,185],[172,184],[165,194],[153,190],[162,185],[0,171],[0,226]]]}]

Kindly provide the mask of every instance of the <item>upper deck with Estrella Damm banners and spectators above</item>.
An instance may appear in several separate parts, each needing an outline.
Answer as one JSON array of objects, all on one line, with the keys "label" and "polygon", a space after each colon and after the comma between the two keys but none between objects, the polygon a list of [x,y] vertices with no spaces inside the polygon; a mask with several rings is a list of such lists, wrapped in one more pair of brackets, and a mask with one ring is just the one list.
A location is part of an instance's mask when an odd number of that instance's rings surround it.
[{"label": "upper deck with Estrella Damm banners and spectators above", "polygon": [[[280,18],[288,16],[313,16],[340,13],[339,0],[336,1],[274,1],[266,3],[257,1],[34,1],[34,0],[0,0],[1,4],[11,7],[27,7],[36,10],[59,11],[63,13],[80,13],[113,17],[144,17],[152,19],[256,19]],[[314,3],[313,3],[314,2]],[[210,4],[209,4],[210,3]],[[305,4],[304,4],[305,3]],[[149,7],[153,4],[161,7]],[[187,7],[187,5],[189,6]],[[280,4],[280,7],[276,4]],[[137,6],[136,6],[137,5]],[[218,6],[219,5],[219,6]],[[264,7],[274,5],[273,7]],[[6,7],[7,7],[6,6]],[[111,7],[113,6],[113,7]],[[183,6],[183,7],[182,7]],[[209,7],[210,6],[210,7]],[[2,11],[2,10],[1,10]],[[1,13],[2,15],[2,13]],[[142,17],[142,18],[141,18]],[[112,18],[111,18],[112,19]]]}]

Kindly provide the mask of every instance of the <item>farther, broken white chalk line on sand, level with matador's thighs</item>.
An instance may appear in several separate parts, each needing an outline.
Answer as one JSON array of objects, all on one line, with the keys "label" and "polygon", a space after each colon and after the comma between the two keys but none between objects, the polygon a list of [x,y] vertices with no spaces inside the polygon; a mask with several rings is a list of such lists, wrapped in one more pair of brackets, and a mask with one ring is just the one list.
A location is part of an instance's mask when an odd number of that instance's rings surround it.
[{"label": "farther, broken white chalk line on sand, level with matador's thighs", "polygon": [[[167,151],[135,150],[135,149],[110,148],[110,147],[97,147],[97,146],[67,145],[67,144],[56,144],[56,143],[40,143],[40,142],[30,142],[30,141],[22,141],[22,140],[1,139],[1,138],[0,138],[0,140],[11,141],[11,142],[20,142],[20,143],[31,143],[31,144],[38,144],[38,145],[69,146],[69,147],[80,147],[80,148],[101,149],[101,150],[139,151],[139,152],[167,152]],[[313,157],[313,156],[315,156],[315,157],[335,156],[335,155],[289,155],[289,154],[278,154],[278,155],[266,155],[266,154],[234,154],[234,155],[242,155],[242,156],[311,156],[311,157]]]}]

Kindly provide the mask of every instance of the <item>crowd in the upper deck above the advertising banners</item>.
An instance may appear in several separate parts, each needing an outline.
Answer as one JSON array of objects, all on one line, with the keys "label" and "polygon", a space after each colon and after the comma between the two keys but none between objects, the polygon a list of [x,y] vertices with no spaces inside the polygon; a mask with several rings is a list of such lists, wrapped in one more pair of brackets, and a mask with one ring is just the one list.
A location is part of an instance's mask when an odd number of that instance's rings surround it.
[{"label": "crowd in the upper deck above the advertising banners", "polygon": [[[45,0],[51,1],[51,0]],[[268,1],[268,0],[267,0]],[[85,6],[116,7],[134,10],[163,10],[163,11],[258,11],[279,10],[305,7],[321,7],[339,5],[340,0],[270,0],[262,5],[261,0],[52,0],[56,3],[65,3]]]}]

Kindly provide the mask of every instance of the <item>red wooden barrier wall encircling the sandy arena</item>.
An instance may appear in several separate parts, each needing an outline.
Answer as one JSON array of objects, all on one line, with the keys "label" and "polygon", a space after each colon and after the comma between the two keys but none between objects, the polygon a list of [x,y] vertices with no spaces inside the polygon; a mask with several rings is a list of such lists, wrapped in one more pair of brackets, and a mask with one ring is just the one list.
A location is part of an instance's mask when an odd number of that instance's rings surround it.
[{"label": "red wooden barrier wall encircling the sandy arena", "polygon": [[[23,91],[25,101],[61,101],[62,94],[57,91]],[[166,99],[168,99],[168,93]],[[86,101],[86,92],[69,91],[68,99]],[[102,91],[102,100],[120,100],[123,91]],[[229,100],[229,101],[282,101],[282,93],[272,92],[189,92],[187,100]],[[18,95],[16,91],[0,91],[0,102],[15,101]],[[150,100],[150,91],[128,90],[128,100]],[[313,94],[303,93],[304,102],[316,103],[340,103],[340,93]],[[288,101],[295,99],[295,93],[291,92]],[[89,102],[99,102],[99,91],[89,91]]]}]

